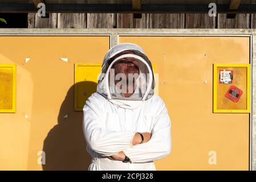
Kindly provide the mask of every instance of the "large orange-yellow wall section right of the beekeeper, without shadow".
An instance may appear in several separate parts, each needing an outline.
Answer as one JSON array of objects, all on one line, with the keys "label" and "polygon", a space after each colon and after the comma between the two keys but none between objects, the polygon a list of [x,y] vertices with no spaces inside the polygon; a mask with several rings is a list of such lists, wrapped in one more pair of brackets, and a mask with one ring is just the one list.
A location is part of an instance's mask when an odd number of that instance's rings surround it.
[{"label": "large orange-yellow wall section right of the beekeeper, without shadow", "polygon": [[[159,73],[172,121],[172,152],[159,170],[248,170],[247,113],[213,113],[213,64],[249,64],[250,38],[119,36],[141,46]],[[216,164],[209,163],[216,153]]]}]

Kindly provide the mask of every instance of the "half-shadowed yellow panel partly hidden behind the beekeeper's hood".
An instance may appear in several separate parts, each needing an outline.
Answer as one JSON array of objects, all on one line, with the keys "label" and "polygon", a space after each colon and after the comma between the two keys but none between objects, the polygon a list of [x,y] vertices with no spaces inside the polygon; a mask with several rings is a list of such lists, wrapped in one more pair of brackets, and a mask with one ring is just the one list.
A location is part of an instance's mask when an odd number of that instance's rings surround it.
[{"label": "half-shadowed yellow panel partly hidden behind the beekeeper's hood", "polygon": [[101,64],[75,64],[75,110],[82,111],[86,100],[97,89]]}]

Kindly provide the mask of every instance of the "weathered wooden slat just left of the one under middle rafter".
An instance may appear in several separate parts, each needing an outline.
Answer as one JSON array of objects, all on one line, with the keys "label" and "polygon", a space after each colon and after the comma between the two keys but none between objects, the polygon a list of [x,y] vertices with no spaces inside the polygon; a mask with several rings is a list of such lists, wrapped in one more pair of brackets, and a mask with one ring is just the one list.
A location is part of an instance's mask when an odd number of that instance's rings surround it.
[{"label": "weathered wooden slat just left of the one under middle rafter", "polygon": [[115,13],[87,13],[87,28],[115,28]]}]

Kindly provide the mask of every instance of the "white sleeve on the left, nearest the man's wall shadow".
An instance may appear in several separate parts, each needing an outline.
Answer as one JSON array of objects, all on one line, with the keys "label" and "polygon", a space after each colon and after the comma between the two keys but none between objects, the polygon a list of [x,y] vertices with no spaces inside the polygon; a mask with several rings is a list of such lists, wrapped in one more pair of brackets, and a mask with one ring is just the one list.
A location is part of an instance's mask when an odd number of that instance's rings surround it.
[{"label": "white sleeve on the left, nearest the man's wall shadow", "polygon": [[102,156],[115,155],[132,146],[133,131],[109,131],[101,127],[100,100],[92,94],[83,108],[83,132],[88,146]]}]

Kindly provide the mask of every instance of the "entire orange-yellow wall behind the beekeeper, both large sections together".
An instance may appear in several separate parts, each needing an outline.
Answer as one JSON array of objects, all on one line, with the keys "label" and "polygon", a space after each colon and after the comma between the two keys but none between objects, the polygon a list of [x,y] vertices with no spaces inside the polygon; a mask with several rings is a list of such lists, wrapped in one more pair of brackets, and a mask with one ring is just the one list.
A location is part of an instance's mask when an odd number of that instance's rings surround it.
[{"label": "entire orange-yellow wall behind the beekeeper, both large sections together", "polygon": [[[249,38],[119,40],[139,44],[159,73],[173,148],[156,162],[157,169],[249,169],[249,114],[212,112],[213,63],[249,63]],[[1,36],[0,42],[0,64],[17,64],[17,112],[0,113],[0,169],[86,170],[91,158],[83,137],[83,113],[74,111],[74,64],[101,63],[109,37]],[[68,62],[60,57],[68,57]],[[42,150],[43,168],[38,164]],[[216,165],[208,163],[209,151],[217,152]]]}]

